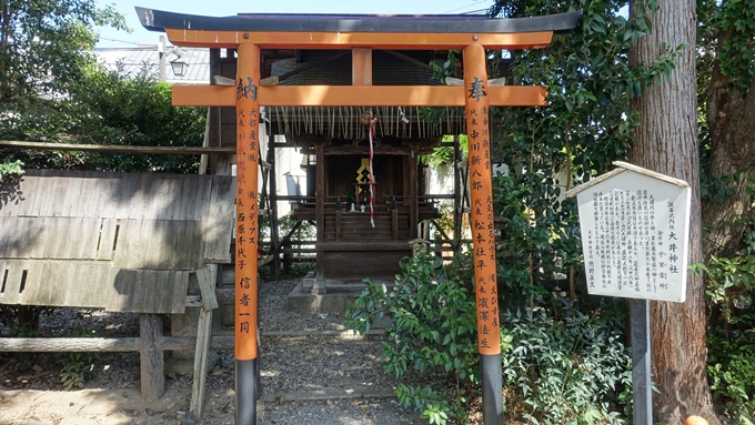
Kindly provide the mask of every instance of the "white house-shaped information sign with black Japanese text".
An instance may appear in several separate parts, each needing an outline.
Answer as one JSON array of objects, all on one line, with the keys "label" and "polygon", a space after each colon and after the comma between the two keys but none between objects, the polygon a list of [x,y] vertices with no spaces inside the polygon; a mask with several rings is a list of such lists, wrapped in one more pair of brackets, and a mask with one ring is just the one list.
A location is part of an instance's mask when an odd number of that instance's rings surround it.
[{"label": "white house-shaped information sign with black Japanese text", "polygon": [[575,188],[587,292],[684,302],[689,185],[638,166],[620,168]]}]

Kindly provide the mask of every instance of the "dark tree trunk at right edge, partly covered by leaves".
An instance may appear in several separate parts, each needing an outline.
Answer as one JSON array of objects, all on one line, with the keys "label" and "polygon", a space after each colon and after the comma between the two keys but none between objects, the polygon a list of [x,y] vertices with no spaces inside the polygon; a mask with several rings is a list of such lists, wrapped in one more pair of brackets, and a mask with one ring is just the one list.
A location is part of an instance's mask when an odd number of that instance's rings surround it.
[{"label": "dark tree trunk at right edge, partly covered by leaves", "polygon": [[[718,49],[729,39],[723,31],[718,34]],[[707,91],[706,121],[711,132],[711,174],[721,179],[747,169],[729,188],[732,196],[723,203],[706,202],[703,205],[703,223],[706,259],[711,255],[732,256],[742,244],[743,236],[752,229],[727,225],[733,220],[753,213],[753,198],[747,192],[749,176],[755,170],[755,81],[749,90],[735,84],[721,72],[714,61]]]}]

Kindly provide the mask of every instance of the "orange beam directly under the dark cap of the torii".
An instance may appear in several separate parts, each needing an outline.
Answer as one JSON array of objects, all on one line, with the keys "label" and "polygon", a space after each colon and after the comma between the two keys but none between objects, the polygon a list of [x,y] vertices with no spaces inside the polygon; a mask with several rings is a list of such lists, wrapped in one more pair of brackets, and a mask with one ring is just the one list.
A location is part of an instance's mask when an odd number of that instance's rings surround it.
[{"label": "orange beam directly under the dark cap of the torii", "polygon": [[256,44],[261,49],[351,49],[447,50],[475,43],[486,49],[522,50],[544,48],[553,31],[514,33],[465,32],[280,32],[202,31],[167,29],[171,43],[181,47],[229,48]]}]

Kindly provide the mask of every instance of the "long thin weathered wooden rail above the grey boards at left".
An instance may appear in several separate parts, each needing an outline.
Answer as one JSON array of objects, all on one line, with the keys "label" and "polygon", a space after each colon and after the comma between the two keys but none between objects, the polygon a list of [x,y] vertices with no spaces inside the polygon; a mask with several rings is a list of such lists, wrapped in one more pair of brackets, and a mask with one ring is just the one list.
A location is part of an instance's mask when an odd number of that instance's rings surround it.
[{"label": "long thin weathered wooden rail above the grey boards at left", "polygon": [[99,153],[149,153],[171,155],[202,155],[211,153],[235,153],[235,148],[202,146],[124,146],[113,144],[47,143],[31,141],[0,140],[0,148],[37,149],[40,151],[78,151]]}]

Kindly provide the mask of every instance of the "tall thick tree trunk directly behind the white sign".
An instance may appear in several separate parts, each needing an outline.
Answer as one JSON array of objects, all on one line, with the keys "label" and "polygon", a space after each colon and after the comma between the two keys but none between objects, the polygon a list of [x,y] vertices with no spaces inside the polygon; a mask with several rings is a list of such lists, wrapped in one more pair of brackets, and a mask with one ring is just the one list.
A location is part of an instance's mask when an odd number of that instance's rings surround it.
[{"label": "tall thick tree trunk directly behind the white sign", "polygon": [[[662,0],[660,10],[647,11],[652,33],[630,49],[630,62],[650,64],[662,53],[686,44],[670,81],[662,79],[632,100],[641,111],[640,128],[630,162],[683,179],[692,185],[689,263],[703,261],[699,154],[697,149],[697,90],[695,79],[695,1]],[[636,14],[635,4],[632,13]],[[701,415],[719,424],[712,407],[705,371],[705,301],[702,277],[687,272],[685,303],[653,302],[651,312],[653,377],[660,394],[653,395],[654,421],[683,424]]]}]

